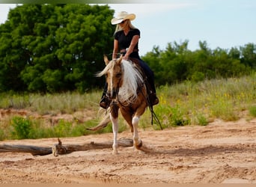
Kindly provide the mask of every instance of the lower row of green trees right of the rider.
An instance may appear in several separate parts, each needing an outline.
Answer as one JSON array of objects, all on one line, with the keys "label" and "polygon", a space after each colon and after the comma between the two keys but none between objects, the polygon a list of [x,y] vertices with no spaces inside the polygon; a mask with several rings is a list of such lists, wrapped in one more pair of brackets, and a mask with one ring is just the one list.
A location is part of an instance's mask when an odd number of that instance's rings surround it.
[{"label": "lower row of green trees right of the rider", "polygon": [[199,49],[188,49],[189,41],[168,43],[165,50],[154,46],[143,57],[154,70],[156,85],[176,82],[246,76],[256,70],[256,45],[231,49],[210,49],[206,41],[199,41]]}]

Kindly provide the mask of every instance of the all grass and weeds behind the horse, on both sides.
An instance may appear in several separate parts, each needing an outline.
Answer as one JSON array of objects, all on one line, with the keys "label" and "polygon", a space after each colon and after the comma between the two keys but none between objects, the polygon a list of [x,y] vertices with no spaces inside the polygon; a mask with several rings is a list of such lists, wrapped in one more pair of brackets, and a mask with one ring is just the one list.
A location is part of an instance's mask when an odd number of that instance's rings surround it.
[{"label": "all grass and weeds behind the horse, on both sides", "polygon": [[[216,118],[238,120],[241,117],[256,117],[256,74],[242,78],[213,79],[204,82],[183,82],[177,85],[165,85],[157,89],[159,105],[154,111],[163,128],[171,126],[206,126]],[[0,108],[16,108],[33,111],[40,115],[55,116],[72,114],[72,121],[58,120],[58,123],[46,125],[40,118],[10,115],[0,121],[0,140],[20,138],[49,138],[88,135],[91,133],[112,132],[109,125],[100,132],[91,132],[86,128],[96,126],[102,91],[90,93],[1,93]],[[84,123],[76,120],[76,111],[90,111],[92,119]],[[248,112],[245,112],[248,111]],[[142,129],[152,128],[150,111],[141,117]],[[119,131],[128,127],[120,117]],[[154,121],[153,129],[160,129]]]}]

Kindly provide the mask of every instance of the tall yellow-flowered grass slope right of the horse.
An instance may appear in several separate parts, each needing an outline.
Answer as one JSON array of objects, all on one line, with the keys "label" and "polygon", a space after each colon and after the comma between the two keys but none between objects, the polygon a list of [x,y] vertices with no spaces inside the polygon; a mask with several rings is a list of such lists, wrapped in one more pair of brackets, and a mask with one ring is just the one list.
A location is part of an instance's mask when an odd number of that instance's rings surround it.
[{"label": "tall yellow-flowered grass slope right of the horse", "polygon": [[[160,104],[154,107],[165,128],[180,125],[205,126],[216,118],[233,121],[255,117],[256,74],[242,78],[183,82],[158,89]],[[247,114],[244,111],[249,111]],[[145,117],[145,116],[143,116]],[[147,112],[147,118],[150,114]],[[141,122],[140,122],[141,123]],[[149,120],[142,123],[150,123]],[[144,128],[146,125],[141,124]],[[159,126],[153,126],[159,129]]]}]

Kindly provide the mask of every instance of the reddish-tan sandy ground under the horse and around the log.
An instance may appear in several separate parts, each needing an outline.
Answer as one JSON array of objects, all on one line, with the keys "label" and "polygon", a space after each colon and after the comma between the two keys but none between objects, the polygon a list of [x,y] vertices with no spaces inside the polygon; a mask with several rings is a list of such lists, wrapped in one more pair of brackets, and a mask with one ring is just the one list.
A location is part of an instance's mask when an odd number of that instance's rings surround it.
[{"label": "reddish-tan sandy ground under the horse and around the log", "polygon": [[[0,183],[256,183],[256,119],[162,131],[139,130],[150,153],[132,147],[58,157],[0,153]],[[122,132],[119,138],[131,138]],[[63,144],[111,141],[112,134],[61,138]],[[0,141],[52,147],[56,138]]]}]

